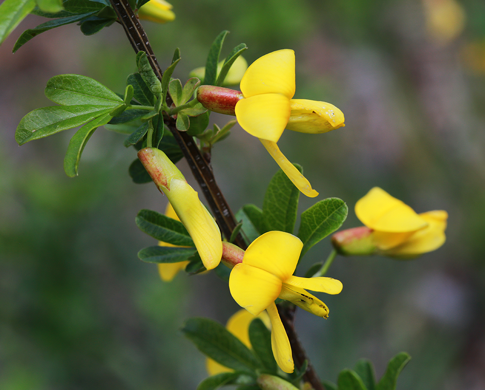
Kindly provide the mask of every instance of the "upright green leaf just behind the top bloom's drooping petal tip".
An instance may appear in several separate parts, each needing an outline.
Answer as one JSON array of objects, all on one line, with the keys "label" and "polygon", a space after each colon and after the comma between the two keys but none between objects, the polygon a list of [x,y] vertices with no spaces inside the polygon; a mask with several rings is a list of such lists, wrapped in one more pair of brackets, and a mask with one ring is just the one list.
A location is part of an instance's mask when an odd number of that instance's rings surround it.
[{"label": "upright green leaf just behind the top bloom's drooping petal tip", "polygon": [[[302,172],[301,166],[294,164]],[[266,229],[293,234],[300,190],[294,186],[283,170],[271,179],[263,200],[263,219]]]}]

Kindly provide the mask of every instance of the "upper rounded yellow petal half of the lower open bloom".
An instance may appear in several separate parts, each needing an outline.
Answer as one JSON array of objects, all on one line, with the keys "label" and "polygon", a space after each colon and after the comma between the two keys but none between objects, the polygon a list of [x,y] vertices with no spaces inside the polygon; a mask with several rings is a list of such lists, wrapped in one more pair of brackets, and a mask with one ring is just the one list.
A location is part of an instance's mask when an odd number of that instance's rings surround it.
[{"label": "upper rounded yellow petal half of the lower open bloom", "polygon": [[242,263],[285,281],[295,271],[303,242],[290,233],[271,231],[256,238],[244,252]]}]

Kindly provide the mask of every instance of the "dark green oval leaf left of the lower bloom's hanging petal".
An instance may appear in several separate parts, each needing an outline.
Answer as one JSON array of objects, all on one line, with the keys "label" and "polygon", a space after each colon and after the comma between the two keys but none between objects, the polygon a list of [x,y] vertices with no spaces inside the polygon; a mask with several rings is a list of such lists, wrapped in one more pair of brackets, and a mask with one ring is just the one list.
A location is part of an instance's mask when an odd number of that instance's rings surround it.
[{"label": "dark green oval leaf left of the lower bloom's hanging petal", "polygon": [[182,332],[200,352],[226,367],[253,375],[259,368],[256,356],[218,322],[191,318],[185,322]]}]

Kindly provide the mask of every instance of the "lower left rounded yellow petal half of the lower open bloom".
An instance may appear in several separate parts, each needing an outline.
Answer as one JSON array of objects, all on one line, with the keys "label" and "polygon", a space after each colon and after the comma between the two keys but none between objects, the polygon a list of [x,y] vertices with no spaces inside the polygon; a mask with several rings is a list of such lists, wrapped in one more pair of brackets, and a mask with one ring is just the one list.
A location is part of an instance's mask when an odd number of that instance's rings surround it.
[{"label": "lower left rounded yellow petal half of the lower open bloom", "polygon": [[281,281],[267,271],[240,263],[231,271],[229,290],[238,305],[257,316],[275,302]]}]

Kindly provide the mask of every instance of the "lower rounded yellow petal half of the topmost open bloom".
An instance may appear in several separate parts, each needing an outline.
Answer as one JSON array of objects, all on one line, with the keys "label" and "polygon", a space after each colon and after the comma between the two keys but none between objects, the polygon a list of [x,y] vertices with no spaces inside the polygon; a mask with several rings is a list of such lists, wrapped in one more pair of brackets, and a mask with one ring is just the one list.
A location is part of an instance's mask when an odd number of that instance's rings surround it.
[{"label": "lower rounded yellow petal half of the topmost open bloom", "polygon": [[277,142],[290,118],[290,100],[277,93],[257,95],[237,102],[235,112],[251,136]]}]

